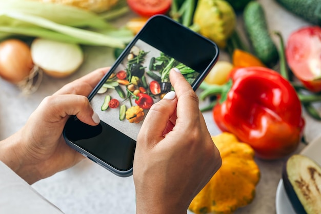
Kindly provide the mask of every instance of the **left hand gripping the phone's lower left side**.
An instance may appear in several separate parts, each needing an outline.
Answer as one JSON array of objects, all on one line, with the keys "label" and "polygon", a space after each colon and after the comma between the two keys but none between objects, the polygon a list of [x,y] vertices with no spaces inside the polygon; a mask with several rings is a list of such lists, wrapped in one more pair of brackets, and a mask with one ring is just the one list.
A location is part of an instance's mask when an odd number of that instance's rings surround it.
[{"label": "left hand gripping the phone's lower left side", "polygon": [[0,160],[29,184],[81,161],[62,132],[69,115],[89,125],[99,123],[87,96],[108,70],[97,69],[45,98],[21,130],[0,142]]}]

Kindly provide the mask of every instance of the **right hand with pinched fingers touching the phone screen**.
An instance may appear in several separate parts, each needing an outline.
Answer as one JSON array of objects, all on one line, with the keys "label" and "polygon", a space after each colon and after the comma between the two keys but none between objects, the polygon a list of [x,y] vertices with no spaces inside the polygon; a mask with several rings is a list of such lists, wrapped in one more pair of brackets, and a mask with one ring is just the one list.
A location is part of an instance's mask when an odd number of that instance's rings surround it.
[{"label": "right hand with pinched fingers touching the phone screen", "polygon": [[138,134],[133,176],[136,213],[185,213],[222,164],[198,98],[177,69],[166,94],[146,115]]}]

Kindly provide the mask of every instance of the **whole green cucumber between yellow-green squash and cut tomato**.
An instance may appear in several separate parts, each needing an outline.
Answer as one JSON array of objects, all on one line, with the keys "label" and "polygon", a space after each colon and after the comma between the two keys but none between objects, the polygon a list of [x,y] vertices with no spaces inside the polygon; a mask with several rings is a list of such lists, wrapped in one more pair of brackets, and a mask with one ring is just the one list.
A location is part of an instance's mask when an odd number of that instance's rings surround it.
[{"label": "whole green cucumber between yellow-green squash and cut tomato", "polygon": [[278,62],[278,51],[270,36],[262,5],[256,1],[247,4],[243,19],[254,54],[266,66],[273,67]]}]

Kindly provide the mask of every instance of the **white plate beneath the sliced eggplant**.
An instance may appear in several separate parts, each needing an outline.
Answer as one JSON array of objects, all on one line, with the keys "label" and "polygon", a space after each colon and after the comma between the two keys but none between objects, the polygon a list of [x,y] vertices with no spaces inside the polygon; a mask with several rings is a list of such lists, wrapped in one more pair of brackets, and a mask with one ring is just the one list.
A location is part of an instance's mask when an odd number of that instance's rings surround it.
[{"label": "white plate beneath the sliced eggplant", "polygon": [[[311,141],[309,145],[302,150],[301,154],[307,155],[321,165],[320,151],[321,136]],[[275,206],[276,214],[296,214],[284,189],[282,179],[280,179],[276,189]]]}]

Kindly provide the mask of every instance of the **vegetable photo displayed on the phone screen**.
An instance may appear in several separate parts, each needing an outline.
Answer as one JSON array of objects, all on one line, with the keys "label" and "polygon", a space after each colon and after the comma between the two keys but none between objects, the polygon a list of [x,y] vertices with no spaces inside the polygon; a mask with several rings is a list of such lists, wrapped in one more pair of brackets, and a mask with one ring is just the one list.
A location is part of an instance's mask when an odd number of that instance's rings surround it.
[{"label": "vegetable photo displayed on the phone screen", "polygon": [[102,121],[136,140],[150,107],[174,90],[169,72],[178,68],[192,84],[198,72],[138,40],[91,100]]}]

